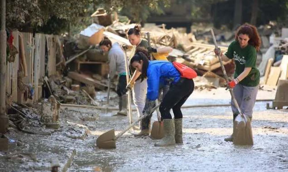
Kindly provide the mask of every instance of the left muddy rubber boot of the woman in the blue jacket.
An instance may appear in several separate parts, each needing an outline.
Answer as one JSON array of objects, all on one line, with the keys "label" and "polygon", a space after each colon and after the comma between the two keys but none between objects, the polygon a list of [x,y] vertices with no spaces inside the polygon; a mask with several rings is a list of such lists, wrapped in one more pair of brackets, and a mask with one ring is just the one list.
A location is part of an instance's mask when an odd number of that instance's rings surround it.
[{"label": "left muddy rubber boot of the woman in the blue jacket", "polygon": [[175,124],[173,119],[163,119],[164,137],[155,146],[170,146],[175,143]]}]

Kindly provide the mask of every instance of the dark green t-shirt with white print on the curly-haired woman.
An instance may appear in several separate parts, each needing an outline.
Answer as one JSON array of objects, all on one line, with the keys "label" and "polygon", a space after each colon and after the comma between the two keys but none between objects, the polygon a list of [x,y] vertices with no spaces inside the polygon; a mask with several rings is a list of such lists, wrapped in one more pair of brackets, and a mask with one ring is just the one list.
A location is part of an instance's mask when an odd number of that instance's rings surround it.
[{"label": "dark green t-shirt with white print on the curly-haired woman", "polygon": [[233,41],[225,55],[235,61],[235,73],[234,78],[238,77],[245,69],[245,67],[251,67],[249,74],[242,79],[239,83],[247,87],[256,87],[260,81],[260,72],[256,67],[257,52],[256,49],[247,45],[245,48],[241,48],[238,41]]}]

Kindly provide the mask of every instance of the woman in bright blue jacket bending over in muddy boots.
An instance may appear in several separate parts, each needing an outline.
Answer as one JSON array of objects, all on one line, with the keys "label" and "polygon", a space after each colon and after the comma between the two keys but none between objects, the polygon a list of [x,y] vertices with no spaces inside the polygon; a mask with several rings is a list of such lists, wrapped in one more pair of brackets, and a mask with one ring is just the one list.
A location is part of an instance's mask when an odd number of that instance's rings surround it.
[{"label": "woman in bright blue jacket bending over in muddy boots", "polygon": [[[193,80],[182,78],[171,62],[162,60],[149,61],[142,52],[138,52],[132,57],[130,65],[142,73],[141,80],[147,78],[149,107],[145,112],[146,114],[150,114],[154,101],[158,98],[159,84],[164,84],[168,80],[172,81],[170,89],[159,107],[164,124],[164,137],[155,146],[182,144],[183,115],[181,106],[194,90]],[[171,109],[175,120],[172,119],[170,114]]]}]

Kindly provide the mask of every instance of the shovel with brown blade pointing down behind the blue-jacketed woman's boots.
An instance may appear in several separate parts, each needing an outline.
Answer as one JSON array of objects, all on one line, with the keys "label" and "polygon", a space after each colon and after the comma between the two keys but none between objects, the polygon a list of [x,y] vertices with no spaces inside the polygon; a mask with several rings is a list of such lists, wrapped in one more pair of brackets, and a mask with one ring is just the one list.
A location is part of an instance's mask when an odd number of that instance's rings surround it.
[{"label": "shovel with brown blade pointing down behind the blue-jacketed woman's boots", "polygon": [[[158,106],[158,100],[155,100],[156,106]],[[150,137],[154,139],[161,139],[164,137],[163,122],[161,121],[161,115],[159,109],[156,109],[158,121],[153,122]]]}]

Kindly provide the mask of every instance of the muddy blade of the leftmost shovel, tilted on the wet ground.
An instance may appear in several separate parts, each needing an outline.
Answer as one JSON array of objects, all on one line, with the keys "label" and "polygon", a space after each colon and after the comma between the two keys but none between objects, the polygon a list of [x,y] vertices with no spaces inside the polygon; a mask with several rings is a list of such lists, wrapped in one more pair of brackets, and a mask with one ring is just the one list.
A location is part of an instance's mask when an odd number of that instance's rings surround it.
[{"label": "muddy blade of the leftmost shovel, tilted on the wet ground", "polygon": [[105,148],[105,149],[116,148],[114,129],[101,134],[96,140],[96,145],[98,146],[98,148]]}]

